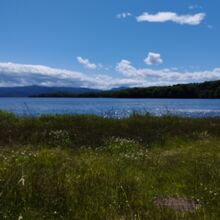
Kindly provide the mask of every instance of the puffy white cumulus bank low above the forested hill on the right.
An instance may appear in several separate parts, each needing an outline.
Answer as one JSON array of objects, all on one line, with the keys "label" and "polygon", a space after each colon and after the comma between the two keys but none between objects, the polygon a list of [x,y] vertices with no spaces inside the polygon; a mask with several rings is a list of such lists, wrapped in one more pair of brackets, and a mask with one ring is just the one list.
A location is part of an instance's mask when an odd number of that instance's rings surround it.
[{"label": "puffy white cumulus bank low above the forested hill on the right", "polygon": [[209,80],[220,79],[220,68],[215,68],[211,71],[185,71],[181,72],[176,69],[139,69],[132,65],[128,60],[122,60],[116,65],[116,71],[125,77],[133,77],[147,81],[160,81],[163,83],[187,83],[187,82],[202,82]]}]

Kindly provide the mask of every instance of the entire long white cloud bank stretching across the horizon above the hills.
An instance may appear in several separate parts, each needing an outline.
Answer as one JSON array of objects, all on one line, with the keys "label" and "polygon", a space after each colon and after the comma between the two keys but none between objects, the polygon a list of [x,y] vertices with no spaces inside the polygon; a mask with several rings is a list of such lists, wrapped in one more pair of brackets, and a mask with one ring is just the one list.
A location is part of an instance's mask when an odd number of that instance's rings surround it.
[{"label": "entire long white cloud bank stretching across the horizon above the hills", "polygon": [[92,74],[57,69],[43,65],[0,63],[0,86],[68,86],[110,89],[114,87],[147,87],[176,83],[202,82],[220,79],[220,68],[206,71],[184,71],[178,69],[153,70],[136,68],[128,60],[116,66],[122,75]]}]

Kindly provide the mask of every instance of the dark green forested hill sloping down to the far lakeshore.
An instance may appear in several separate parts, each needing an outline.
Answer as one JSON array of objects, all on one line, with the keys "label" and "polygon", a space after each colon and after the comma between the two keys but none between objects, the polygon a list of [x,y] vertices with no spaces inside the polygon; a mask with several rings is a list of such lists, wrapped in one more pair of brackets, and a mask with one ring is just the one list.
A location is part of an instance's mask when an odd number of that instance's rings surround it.
[{"label": "dark green forested hill sloping down to the far lakeshore", "polygon": [[32,97],[87,97],[87,98],[220,98],[220,80],[204,83],[128,88],[87,93],[44,93]]}]

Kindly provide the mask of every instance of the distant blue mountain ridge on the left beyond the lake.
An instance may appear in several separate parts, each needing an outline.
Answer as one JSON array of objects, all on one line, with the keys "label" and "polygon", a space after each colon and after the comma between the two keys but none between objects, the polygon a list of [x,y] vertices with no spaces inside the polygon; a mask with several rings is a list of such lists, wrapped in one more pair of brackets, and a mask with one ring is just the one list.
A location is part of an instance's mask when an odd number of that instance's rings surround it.
[{"label": "distant blue mountain ridge on the left beyond the lake", "polygon": [[46,87],[46,86],[24,86],[24,87],[0,87],[0,97],[29,97],[47,93],[93,93],[101,92],[98,89],[72,88],[72,87]]}]

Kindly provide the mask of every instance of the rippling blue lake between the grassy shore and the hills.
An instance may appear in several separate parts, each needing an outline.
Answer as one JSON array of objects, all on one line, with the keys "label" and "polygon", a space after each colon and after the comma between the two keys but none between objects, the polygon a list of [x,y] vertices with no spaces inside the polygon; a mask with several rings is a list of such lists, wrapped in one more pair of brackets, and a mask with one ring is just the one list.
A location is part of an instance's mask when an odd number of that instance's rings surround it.
[{"label": "rippling blue lake between the grassy shore and the hills", "polygon": [[95,114],[127,117],[132,112],[160,116],[220,116],[220,99],[0,98],[0,109],[20,116]]}]

